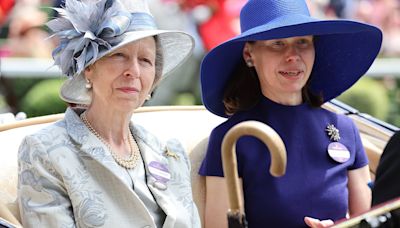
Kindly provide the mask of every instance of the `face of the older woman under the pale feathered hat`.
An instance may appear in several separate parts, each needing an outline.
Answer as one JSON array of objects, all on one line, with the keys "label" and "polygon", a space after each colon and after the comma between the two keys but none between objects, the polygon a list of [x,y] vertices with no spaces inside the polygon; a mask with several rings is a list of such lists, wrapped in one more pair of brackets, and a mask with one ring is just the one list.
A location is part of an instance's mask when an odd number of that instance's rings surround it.
[{"label": "face of the older woman under the pale feathered hat", "polygon": [[104,56],[85,70],[92,83],[92,104],[127,112],[140,107],[151,92],[156,43],[144,38]]}]

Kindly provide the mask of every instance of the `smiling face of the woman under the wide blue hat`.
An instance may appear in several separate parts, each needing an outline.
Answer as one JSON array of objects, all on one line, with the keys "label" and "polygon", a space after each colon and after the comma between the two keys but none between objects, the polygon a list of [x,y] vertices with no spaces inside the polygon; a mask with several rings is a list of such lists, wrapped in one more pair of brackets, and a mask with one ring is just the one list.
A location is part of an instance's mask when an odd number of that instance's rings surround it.
[{"label": "smiling face of the woman under the wide blue hat", "polygon": [[301,90],[315,58],[312,36],[246,43],[243,56],[245,61],[251,59],[264,96],[274,101],[302,102]]}]

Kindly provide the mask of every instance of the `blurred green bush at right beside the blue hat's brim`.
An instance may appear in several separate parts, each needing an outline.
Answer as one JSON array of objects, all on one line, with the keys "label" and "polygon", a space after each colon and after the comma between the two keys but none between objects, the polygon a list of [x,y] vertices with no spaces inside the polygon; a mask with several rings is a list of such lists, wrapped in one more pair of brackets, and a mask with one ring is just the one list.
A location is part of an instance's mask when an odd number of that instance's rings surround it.
[{"label": "blurred green bush at right beside the blue hat's brim", "polygon": [[380,81],[364,77],[337,99],[362,113],[387,120],[390,108],[389,94]]}]

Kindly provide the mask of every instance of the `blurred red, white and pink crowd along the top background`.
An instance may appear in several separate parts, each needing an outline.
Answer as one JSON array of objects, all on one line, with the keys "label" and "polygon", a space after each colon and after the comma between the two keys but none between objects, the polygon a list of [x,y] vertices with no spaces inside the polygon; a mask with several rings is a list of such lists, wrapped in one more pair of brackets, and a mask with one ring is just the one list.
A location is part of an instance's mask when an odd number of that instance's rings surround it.
[{"label": "blurred red, white and pink crowd along the top background", "polygon": [[[197,54],[239,33],[246,0],[148,0],[162,28],[184,29],[198,38]],[[49,57],[54,41],[44,23],[63,0],[0,0],[0,56]],[[311,14],[367,22],[384,31],[383,56],[400,55],[400,0],[308,0]]]}]

